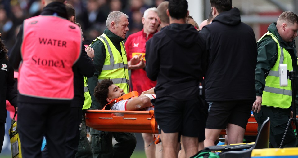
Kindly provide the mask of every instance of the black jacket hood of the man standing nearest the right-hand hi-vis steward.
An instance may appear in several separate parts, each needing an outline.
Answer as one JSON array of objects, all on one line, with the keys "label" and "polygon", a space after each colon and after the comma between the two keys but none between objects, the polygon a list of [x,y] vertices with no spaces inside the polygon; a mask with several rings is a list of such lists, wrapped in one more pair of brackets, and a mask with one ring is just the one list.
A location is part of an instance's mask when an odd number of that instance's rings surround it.
[{"label": "black jacket hood of the man standing nearest the right-hand hi-vis steward", "polygon": [[232,8],[229,11],[221,12],[212,20],[212,22],[214,21],[218,21],[226,25],[237,25],[241,22],[240,11],[238,8]]}]

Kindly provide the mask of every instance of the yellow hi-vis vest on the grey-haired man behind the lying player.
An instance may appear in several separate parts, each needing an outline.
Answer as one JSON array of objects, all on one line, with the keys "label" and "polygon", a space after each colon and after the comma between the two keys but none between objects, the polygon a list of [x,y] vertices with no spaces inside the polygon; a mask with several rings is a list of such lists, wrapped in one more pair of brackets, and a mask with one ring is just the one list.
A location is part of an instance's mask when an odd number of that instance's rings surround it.
[{"label": "yellow hi-vis vest on the grey-haired man behind the lying player", "polygon": [[111,79],[115,85],[119,86],[124,90],[124,93],[127,94],[129,91],[129,76],[126,51],[123,41],[120,42],[122,52],[121,56],[120,52],[106,34],[103,33],[101,36],[97,37],[97,39],[101,40],[106,48],[106,59],[102,67],[102,72],[98,76],[98,82],[101,82],[104,79]]}]

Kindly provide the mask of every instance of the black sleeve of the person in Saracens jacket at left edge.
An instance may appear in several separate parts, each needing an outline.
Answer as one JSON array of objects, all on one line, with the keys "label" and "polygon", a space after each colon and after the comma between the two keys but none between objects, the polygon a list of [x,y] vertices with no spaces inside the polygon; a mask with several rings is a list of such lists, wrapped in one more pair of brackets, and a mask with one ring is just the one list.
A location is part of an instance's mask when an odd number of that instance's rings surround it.
[{"label": "black sleeve of the person in Saracens jacket at left edge", "polygon": [[16,108],[18,92],[15,89],[14,84],[15,80],[13,78],[13,68],[10,67],[7,78],[6,100],[8,100],[9,103]]}]

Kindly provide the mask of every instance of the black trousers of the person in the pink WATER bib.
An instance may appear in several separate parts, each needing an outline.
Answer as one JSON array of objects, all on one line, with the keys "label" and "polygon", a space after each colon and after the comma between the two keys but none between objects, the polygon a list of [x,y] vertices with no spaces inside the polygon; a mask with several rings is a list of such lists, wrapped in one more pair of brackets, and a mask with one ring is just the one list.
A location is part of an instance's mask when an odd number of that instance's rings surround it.
[{"label": "black trousers of the person in the pink WATER bib", "polygon": [[40,158],[43,136],[50,157],[65,158],[69,104],[18,104],[17,129],[23,158]]}]

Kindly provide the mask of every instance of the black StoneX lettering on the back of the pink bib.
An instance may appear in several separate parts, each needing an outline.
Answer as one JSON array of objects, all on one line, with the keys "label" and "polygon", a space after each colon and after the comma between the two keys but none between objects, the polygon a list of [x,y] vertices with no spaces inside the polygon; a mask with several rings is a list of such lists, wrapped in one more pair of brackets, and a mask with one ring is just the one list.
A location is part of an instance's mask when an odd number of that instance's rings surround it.
[{"label": "black StoneX lettering on the back of the pink bib", "polygon": [[65,63],[67,60],[48,60],[48,59],[40,59],[37,56],[32,56],[31,58],[34,64],[42,65],[42,66],[50,66],[56,68],[65,68]]}]

